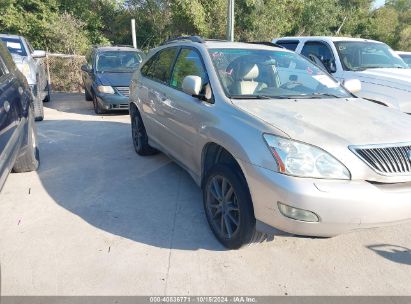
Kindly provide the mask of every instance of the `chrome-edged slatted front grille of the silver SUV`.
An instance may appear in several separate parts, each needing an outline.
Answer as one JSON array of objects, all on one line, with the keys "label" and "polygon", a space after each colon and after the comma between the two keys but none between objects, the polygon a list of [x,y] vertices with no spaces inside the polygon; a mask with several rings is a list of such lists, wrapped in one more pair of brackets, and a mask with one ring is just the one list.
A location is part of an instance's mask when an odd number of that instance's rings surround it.
[{"label": "chrome-edged slatted front grille of the silver SUV", "polygon": [[368,166],[383,175],[411,173],[411,143],[350,147]]}]

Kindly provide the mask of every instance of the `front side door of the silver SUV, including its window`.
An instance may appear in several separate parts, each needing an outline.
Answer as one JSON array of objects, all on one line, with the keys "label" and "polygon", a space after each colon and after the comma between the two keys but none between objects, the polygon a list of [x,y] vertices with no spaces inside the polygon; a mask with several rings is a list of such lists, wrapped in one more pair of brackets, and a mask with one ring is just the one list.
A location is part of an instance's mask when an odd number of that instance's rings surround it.
[{"label": "front side door of the silver SUV, including its window", "polygon": [[201,77],[203,86],[208,84],[201,54],[195,48],[183,47],[174,64],[170,85],[163,91],[160,113],[165,126],[164,142],[170,153],[187,169],[198,172],[193,151],[199,138],[199,126],[205,121],[205,108],[210,104],[183,92],[183,80],[189,75]]}]

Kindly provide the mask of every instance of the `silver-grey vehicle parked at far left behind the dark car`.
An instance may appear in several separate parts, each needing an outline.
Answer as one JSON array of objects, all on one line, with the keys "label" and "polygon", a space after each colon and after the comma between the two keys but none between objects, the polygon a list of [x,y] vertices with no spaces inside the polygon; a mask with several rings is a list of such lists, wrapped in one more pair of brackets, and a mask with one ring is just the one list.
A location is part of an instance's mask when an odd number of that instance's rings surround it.
[{"label": "silver-grey vehicle parked at far left behind the dark car", "polygon": [[0,34],[19,70],[26,77],[34,96],[35,120],[44,119],[43,101],[50,101],[50,87],[43,58],[46,52],[34,50],[22,36]]}]

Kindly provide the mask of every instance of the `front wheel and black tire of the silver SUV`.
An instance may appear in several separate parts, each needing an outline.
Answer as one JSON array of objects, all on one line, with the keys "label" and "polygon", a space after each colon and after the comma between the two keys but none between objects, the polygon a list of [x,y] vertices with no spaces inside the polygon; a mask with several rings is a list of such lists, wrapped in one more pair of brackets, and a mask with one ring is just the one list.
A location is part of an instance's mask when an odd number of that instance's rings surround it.
[{"label": "front wheel and black tire of the silver SUV", "polygon": [[265,240],[266,235],[256,230],[247,182],[236,166],[217,164],[209,170],[203,186],[203,204],[212,232],[226,248],[239,249]]}]

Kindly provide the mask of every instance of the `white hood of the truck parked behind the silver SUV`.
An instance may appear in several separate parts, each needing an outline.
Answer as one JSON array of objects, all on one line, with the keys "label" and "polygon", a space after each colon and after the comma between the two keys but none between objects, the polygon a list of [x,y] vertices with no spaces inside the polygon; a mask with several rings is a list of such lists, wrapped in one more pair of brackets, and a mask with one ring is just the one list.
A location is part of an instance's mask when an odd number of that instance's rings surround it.
[{"label": "white hood of the truck parked behind the silver SUV", "polygon": [[411,69],[368,69],[352,73],[352,77],[364,82],[371,82],[411,92]]}]

